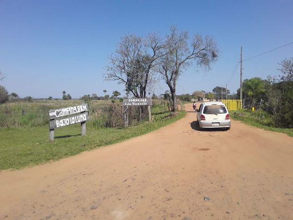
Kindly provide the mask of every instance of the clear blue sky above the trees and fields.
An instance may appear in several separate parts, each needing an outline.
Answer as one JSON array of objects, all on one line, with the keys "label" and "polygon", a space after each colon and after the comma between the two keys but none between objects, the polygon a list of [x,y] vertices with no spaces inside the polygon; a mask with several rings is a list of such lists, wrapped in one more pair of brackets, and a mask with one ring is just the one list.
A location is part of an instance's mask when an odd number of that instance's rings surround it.
[{"label": "clear blue sky above the trees and fields", "polygon": [[[212,35],[221,50],[204,72],[191,66],[177,94],[225,85],[243,59],[293,42],[292,0],[0,0],[0,84],[21,97],[73,98],[123,91],[102,74],[121,36],[165,36],[170,26],[189,35]],[[277,76],[278,62],[293,57],[293,44],[243,63],[243,78]],[[228,88],[239,88],[239,67]],[[150,92],[163,93],[161,82]]]}]

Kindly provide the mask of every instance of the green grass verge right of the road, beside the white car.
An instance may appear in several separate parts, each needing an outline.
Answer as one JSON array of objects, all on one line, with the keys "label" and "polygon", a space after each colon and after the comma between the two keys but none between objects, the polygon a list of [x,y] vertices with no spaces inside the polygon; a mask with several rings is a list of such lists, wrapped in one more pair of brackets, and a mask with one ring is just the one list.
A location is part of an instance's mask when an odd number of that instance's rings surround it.
[{"label": "green grass verge right of the road, beside the white car", "polygon": [[230,116],[232,119],[242,121],[247,125],[262,128],[267,131],[286,133],[293,137],[293,129],[273,127],[272,116],[263,110],[231,110]]}]

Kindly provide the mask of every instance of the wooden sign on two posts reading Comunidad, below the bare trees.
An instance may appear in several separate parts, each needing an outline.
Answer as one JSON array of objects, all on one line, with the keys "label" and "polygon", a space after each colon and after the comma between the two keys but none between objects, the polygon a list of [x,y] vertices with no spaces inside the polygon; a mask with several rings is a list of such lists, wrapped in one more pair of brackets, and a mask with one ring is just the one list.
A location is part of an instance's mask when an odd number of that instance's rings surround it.
[{"label": "wooden sign on two posts reading Comunidad, below the bare trees", "polygon": [[148,110],[148,121],[151,122],[151,112],[150,112],[150,106],[152,105],[152,99],[150,98],[132,98],[132,99],[123,99],[124,106],[124,127],[128,127],[128,106],[147,106]]}]

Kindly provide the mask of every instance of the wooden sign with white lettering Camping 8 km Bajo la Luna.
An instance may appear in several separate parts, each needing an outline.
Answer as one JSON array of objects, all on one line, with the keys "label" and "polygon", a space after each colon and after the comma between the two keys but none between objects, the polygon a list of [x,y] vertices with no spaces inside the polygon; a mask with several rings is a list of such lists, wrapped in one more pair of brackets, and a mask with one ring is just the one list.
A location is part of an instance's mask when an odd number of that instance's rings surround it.
[{"label": "wooden sign with white lettering Camping 8 km Bajo la Luna", "polygon": [[[70,116],[69,116],[70,115]],[[68,117],[69,116],[69,117]],[[49,110],[49,140],[54,140],[54,130],[67,125],[81,123],[82,135],[86,133],[85,122],[88,120],[88,105],[81,104],[73,107]]]}]

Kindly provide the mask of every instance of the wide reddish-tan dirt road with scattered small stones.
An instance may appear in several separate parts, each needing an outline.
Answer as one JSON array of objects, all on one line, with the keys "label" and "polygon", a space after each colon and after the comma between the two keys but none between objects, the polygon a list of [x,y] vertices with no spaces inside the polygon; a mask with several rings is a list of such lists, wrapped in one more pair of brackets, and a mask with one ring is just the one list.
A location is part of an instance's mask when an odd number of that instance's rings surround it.
[{"label": "wide reddish-tan dirt road with scattered small stones", "polygon": [[237,121],[201,132],[188,108],[123,143],[0,172],[0,219],[293,219],[293,138]]}]

